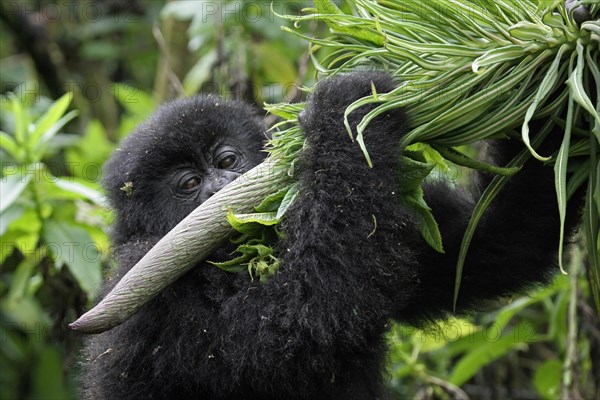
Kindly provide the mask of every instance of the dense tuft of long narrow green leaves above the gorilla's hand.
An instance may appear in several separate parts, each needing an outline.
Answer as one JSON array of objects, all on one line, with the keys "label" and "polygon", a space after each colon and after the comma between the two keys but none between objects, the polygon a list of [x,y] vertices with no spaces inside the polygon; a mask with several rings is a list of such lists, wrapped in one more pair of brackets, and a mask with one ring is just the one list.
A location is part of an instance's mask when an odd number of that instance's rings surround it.
[{"label": "dense tuft of long narrow green leaves above the gorilla's hand", "polygon": [[[554,166],[563,226],[567,199],[587,185],[584,232],[592,288],[600,309],[600,4],[596,0],[346,3],[351,14],[342,12],[333,1],[321,0],[306,10],[307,15],[285,16],[296,25],[324,21],[331,31],[327,38],[284,29],[311,43],[313,61],[324,75],[375,65],[402,82],[396,90],[373,93],[346,110],[347,116],[362,105],[378,104],[356,132],[348,126],[367,161],[368,149],[362,140],[365,127],[377,115],[396,107],[409,110],[415,127],[402,139],[404,146],[425,143],[461,165],[465,163],[460,158],[451,157],[452,146],[520,131],[529,153]],[[327,55],[320,58],[323,49]],[[529,133],[533,117],[546,117],[564,127],[558,153],[538,154],[535,150]],[[537,141],[549,129],[547,126]],[[523,153],[512,165],[518,167],[525,160]],[[510,173],[499,175],[484,193],[465,233],[455,301],[477,222],[510,178],[507,175]],[[561,258],[562,244],[563,233],[557,238]]]}]

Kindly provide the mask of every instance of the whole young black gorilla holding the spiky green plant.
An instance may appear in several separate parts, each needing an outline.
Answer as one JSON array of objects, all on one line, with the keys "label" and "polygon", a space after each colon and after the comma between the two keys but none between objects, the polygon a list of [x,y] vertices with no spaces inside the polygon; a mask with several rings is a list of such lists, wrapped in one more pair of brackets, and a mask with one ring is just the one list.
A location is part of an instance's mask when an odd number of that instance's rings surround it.
[{"label": "whole young black gorilla holding the spiky green plant", "polygon": [[[386,397],[388,323],[419,324],[451,311],[462,235],[490,177],[480,176],[472,191],[441,182],[426,188],[446,253],[433,251],[398,195],[403,111],[365,131],[374,168],[344,127],[346,106],[370,94],[371,82],[379,93],[395,87],[384,73],[355,73],[320,83],[309,98],[300,121],[307,140],[301,197],[283,226],[280,271],[261,284],[199,263],[128,321],[89,340],[86,398]],[[368,110],[352,113],[351,124]],[[248,106],[196,97],[163,106],[122,144],[106,166],[118,272],[104,293],[212,192],[263,159],[264,131]],[[491,158],[505,165],[519,148],[501,141]],[[556,266],[558,231],[552,169],[531,161],[479,225],[460,311],[543,283]]]}]

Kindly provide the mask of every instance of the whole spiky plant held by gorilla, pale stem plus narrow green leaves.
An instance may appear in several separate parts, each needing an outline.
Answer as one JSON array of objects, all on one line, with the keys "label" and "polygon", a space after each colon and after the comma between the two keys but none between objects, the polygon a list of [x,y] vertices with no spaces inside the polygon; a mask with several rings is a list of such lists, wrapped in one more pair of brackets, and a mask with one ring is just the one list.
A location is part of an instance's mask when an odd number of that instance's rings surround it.
[{"label": "whole spiky plant held by gorilla, pale stem plus narrow green leaves", "polygon": [[[456,282],[460,285],[462,264],[470,239],[487,205],[510,175],[532,154],[554,165],[561,220],[566,200],[586,185],[584,231],[593,277],[592,288],[600,309],[600,5],[597,0],[348,0],[352,12],[343,13],[330,0],[317,0],[303,16],[284,16],[301,24],[320,20],[330,27],[326,38],[302,36],[311,43],[311,56],[323,75],[361,68],[392,72],[403,82],[390,93],[375,93],[354,102],[346,116],[370,103],[378,106],[358,125],[355,137],[371,162],[362,133],[377,115],[405,107],[415,128],[402,138],[405,148],[420,144],[425,154],[445,157],[468,167],[490,169],[457,153],[453,146],[497,138],[516,130],[526,149],[500,172],[477,204],[465,233]],[[320,57],[320,49],[328,53]],[[276,105],[271,112],[282,116],[287,129],[274,134],[271,156],[265,165],[248,173],[196,209],[138,263],[95,309],[74,324],[82,331],[101,331],[124,321],[161,288],[173,282],[194,263],[204,259],[230,235],[223,224],[226,216],[244,233],[254,250],[244,247],[242,258],[254,272],[265,270],[272,253],[255,242],[260,229],[281,218],[293,196],[293,165],[302,151],[303,138],[297,126],[302,105]],[[557,154],[538,154],[536,146],[547,135],[551,123],[532,140],[528,123],[533,116],[555,119],[564,126]],[[285,127],[285,126],[284,126]],[[414,149],[413,149],[414,150]],[[407,151],[404,161],[413,165],[420,181],[425,178],[423,152]],[[571,171],[567,181],[567,170]],[[414,179],[413,179],[414,180]],[[411,182],[414,183],[414,182]],[[418,185],[417,185],[418,186]],[[284,190],[281,188],[284,187]],[[268,196],[270,194],[270,196]],[[419,203],[419,187],[405,193],[407,203]],[[265,197],[271,201],[265,202]],[[412,200],[411,200],[412,199]],[[284,201],[285,200],[285,201]],[[252,207],[262,202],[270,210],[260,216]],[[231,206],[236,215],[232,215]],[[264,211],[263,209],[261,209]],[[414,207],[421,232],[440,249],[437,226],[426,207]],[[262,221],[262,222],[261,222]],[[559,241],[560,240],[560,241]],[[177,245],[174,245],[176,243]],[[196,243],[196,245],[194,245]],[[197,245],[201,243],[201,245]],[[561,243],[561,244],[559,244]],[[562,251],[562,237],[557,238]],[[174,250],[174,248],[178,248]],[[272,263],[276,263],[272,261]],[[222,265],[234,268],[234,265]]]}]

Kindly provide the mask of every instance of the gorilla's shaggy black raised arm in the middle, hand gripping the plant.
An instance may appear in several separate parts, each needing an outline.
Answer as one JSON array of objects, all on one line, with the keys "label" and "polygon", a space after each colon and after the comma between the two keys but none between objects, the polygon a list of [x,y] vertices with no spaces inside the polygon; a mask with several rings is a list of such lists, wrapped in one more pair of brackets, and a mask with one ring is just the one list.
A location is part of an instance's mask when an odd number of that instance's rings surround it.
[{"label": "gorilla's shaggy black raised arm in the middle, hand gripping the plant", "polygon": [[380,92],[393,88],[384,74],[319,84],[301,116],[301,198],[284,222],[281,269],[220,306],[222,357],[232,360],[234,380],[258,393],[361,399],[378,390],[392,299],[406,302],[416,279],[401,237],[411,221],[395,190],[404,115],[394,110],[365,132],[375,168],[343,124],[346,106],[370,94],[372,80]]}]

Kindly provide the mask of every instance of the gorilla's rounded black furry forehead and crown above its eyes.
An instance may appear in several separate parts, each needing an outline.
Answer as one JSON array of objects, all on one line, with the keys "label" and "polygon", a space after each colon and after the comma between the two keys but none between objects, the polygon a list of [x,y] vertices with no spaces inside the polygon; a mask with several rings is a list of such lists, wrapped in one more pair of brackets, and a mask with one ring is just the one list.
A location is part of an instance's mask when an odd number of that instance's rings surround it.
[{"label": "gorilla's rounded black furry forehead and crown above its eyes", "polygon": [[178,160],[195,161],[222,141],[260,151],[264,132],[261,119],[247,104],[215,95],[174,100],[159,107],[121,143],[106,172],[135,176]]}]

